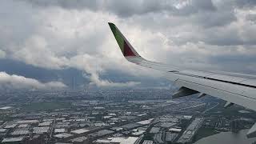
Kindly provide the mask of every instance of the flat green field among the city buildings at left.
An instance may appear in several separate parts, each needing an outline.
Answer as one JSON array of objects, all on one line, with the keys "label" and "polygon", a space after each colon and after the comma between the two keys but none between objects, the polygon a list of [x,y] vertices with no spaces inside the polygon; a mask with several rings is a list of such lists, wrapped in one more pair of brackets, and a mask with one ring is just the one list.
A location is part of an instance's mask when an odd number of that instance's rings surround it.
[{"label": "flat green field among the city buildings at left", "polygon": [[22,106],[22,110],[55,110],[70,107],[70,102],[32,102],[28,105]]}]

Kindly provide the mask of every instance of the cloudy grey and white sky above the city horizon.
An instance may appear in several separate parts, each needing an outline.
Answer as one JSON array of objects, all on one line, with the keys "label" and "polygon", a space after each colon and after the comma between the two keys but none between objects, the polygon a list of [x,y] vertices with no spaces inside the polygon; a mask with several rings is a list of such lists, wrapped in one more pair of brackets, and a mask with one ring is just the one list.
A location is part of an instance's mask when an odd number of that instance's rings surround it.
[{"label": "cloudy grey and white sky above the city horizon", "polygon": [[122,58],[107,22],[144,58],[255,74],[255,6],[254,0],[2,0],[0,88],[168,86],[162,74]]}]

